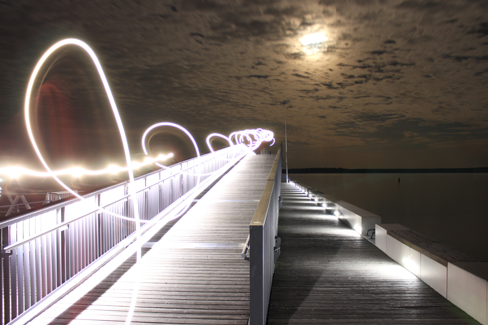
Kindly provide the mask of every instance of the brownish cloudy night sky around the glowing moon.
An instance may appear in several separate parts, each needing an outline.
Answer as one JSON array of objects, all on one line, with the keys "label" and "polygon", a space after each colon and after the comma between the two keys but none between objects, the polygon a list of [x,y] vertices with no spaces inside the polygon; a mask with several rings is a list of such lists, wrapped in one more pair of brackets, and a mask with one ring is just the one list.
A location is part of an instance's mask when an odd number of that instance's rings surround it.
[{"label": "brownish cloudy night sky around the glowing moon", "polygon": [[[486,167],[487,17],[485,0],[3,0],[0,158],[27,151],[12,150],[12,134],[20,148],[37,60],[80,38],[102,62],[133,153],[160,121],[202,146],[209,133],[258,127],[284,142],[285,102],[289,168]],[[328,40],[307,53],[300,38],[318,32]],[[53,80],[83,79],[63,77],[66,62]],[[100,120],[110,108],[92,79],[66,87],[95,93],[77,105]]]}]

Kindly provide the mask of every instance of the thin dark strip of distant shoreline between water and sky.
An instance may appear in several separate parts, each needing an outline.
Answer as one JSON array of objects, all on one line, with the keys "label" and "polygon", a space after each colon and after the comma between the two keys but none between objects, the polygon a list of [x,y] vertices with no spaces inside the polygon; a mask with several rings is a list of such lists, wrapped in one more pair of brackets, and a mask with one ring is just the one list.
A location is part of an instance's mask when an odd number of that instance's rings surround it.
[{"label": "thin dark strip of distant shoreline between water and sky", "polygon": [[[286,170],[283,170],[286,173]],[[289,174],[360,174],[360,173],[474,173],[488,172],[488,167],[474,168],[291,168]]]}]

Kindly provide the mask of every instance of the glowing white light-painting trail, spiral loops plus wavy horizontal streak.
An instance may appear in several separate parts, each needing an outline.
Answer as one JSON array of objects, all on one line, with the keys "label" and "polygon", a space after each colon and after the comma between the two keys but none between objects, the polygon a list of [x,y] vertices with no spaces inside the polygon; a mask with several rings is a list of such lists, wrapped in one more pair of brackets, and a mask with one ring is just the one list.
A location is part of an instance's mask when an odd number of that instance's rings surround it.
[{"label": "glowing white light-painting trail, spiral loops plus wavy horizontal streak", "polygon": [[[102,84],[103,84],[103,87],[105,89],[105,93],[106,93],[108,100],[110,102],[110,106],[112,108],[112,112],[114,114],[115,120],[117,122],[117,127],[119,129],[119,134],[121,136],[122,146],[123,146],[123,150],[124,150],[124,154],[125,154],[125,160],[127,163],[127,167],[119,167],[119,166],[113,166],[112,165],[106,169],[97,170],[97,171],[86,170],[86,169],[82,169],[80,167],[72,167],[72,168],[68,168],[68,169],[64,169],[64,170],[53,171],[48,166],[44,157],[42,156],[41,151],[40,151],[38,144],[36,142],[36,139],[34,137],[34,134],[32,132],[31,120],[30,120],[30,115],[29,115],[30,114],[30,99],[32,96],[32,89],[33,89],[34,82],[36,80],[36,77],[38,76],[39,71],[41,70],[42,65],[44,64],[46,59],[51,54],[53,54],[57,49],[59,49],[60,47],[62,47],[64,45],[77,45],[77,46],[81,47],[91,57],[93,63],[95,64],[95,67],[97,68],[99,76],[102,80]],[[124,220],[135,222],[135,225],[136,225],[136,242],[139,242],[141,239],[141,223],[147,223],[148,221],[141,220],[140,216],[139,216],[139,207],[138,207],[138,202],[137,202],[137,196],[136,196],[136,191],[135,191],[134,186],[133,186],[133,184],[134,184],[134,169],[137,169],[137,168],[140,168],[142,166],[146,166],[146,165],[149,165],[152,163],[155,163],[157,166],[159,166],[163,169],[169,169],[169,167],[160,164],[159,161],[163,161],[163,160],[166,160],[166,159],[172,157],[173,153],[169,153],[166,155],[160,154],[156,158],[147,157],[144,160],[144,162],[142,162],[142,163],[131,161],[129,147],[128,147],[128,143],[127,143],[127,137],[126,137],[123,125],[122,125],[122,120],[121,120],[121,117],[119,115],[119,111],[118,111],[117,106],[115,104],[114,97],[112,96],[112,92],[111,92],[110,87],[108,85],[108,81],[105,77],[105,74],[103,73],[102,66],[101,66],[97,56],[95,55],[95,52],[93,52],[93,50],[86,43],[84,43],[83,41],[81,41],[79,39],[75,39],[75,38],[64,39],[64,40],[61,40],[60,42],[54,44],[51,48],[49,48],[47,50],[46,53],[44,53],[44,55],[41,57],[41,59],[37,63],[34,71],[32,72],[32,75],[29,79],[27,91],[25,94],[24,114],[25,114],[25,124],[27,127],[27,133],[29,135],[29,139],[32,143],[32,146],[34,147],[34,150],[35,150],[37,156],[39,157],[39,160],[41,161],[42,165],[44,166],[44,168],[46,169],[47,172],[32,171],[32,170],[28,170],[28,169],[23,168],[23,167],[3,167],[3,168],[0,168],[0,174],[5,174],[5,175],[12,177],[12,178],[17,178],[20,175],[31,175],[31,176],[39,176],[39,177],[53,177],[64,189],[71,192],[74,196],[76,196],[80,200],[85,201],[85,199],[81,195],[79,195],[76,191],[71,190],[66,184],[64,184],[58,176],[72,175],[75,177],[80,177],[81,175],[102,175],[105,173],[127,172],[129,175],[128,194],[129,194],[129,196],[132,200],[132,203],[133,203],[132,204],[132,210],[133,210],[134,218],[129,218],[129,217],[126,217],[123,215],[119,215],[117,213],[105,210],[99,206],[95,206],[94,209],[97,209],[100,212],[108,213],[109,215],[113,215],[113,216],[116,216],[116,217],[124,219]],[[191,142],[193,143],[197,157],[198,158],[201,157],[200,150],[198,148],[198,145],[197,145],[194,137],[182,126],[175,124],[175,123],[171,123],[171,122],[156,123],[156,124],[152,125],[151,127],[149,127],[144,132],[144,134],[142,135],[142,150],[144,151],[144,153],[146,155],[148,154],[148,151],[146,149],[146,144],[145,144],[147,134],[157,127],[174,127],[174,128],[177,128],[177,129],[183,131],[190,138]],[[237,145],[237,146],[246,148],[245,151],[242,153],[247,153],[247,154],[255,154],[255,153],[253,153],[253,150],[256,150],[257,148],[259,148],[261,143],[263,143],[264,141],[268,141],[268,142],[273,141],[273,143],[271,145],[273,145],[275,142],[275,139],[273,137],[274,136],[273,132],[271,132],[269,130],[264,130],[264,129],[237,131],[237,132],[231,133],[228,137],[226,137],[225,135],[222,135],[222,134],[212,133],[206,138],[206,143],[207,143],[208,148],[210,149],[210,151],[212,153],[214,152],[214,150],[210,144],[210,138],[212,138],[214,136],[222,137],[224,140],[226,140],[229,143],[230,146],[236,146]],[[198,159],[197,159],[197,162],[198,162]],[[224,166],[224,167],[226,167],[226,166]],[[222,167],[222,168],[224,168],[224,167]],[[220,170],[217,170],[215,172],[219,172],[219,171]],[[200,183],[200,176],[210,175],[210,174],[213,174],[215,172],[210,172],[210,173],[205,173],[205,174],[195,173],[193,175],[198,176],[198,179],[197,179],[197,184],[198,184],[198,183]],[[183,209],[180,210],[179,212],[177,212],[175,218],[182,215],[190,207],[190,204],[191,204],[191,201],[189,203],[183,204]],[[140,259],[141,259],[141,249],[139,248],[137,250],[137,261],[139,261]],[[136,267],[137,267],[137,263],[136,263]],[[139,280],[138,279],[136,279],[136,283],[135,283],[133,290],[134,290],[133,296],[131,299],[131,304],[129,306],[129,312],[128,312],[128,315],[127,315],[126,320],[125,320],[125,324],[130,324],[130,322],[132,320],[132,314],[134,312],[135,302],[137,300],[137,292],[139,291]]]}]

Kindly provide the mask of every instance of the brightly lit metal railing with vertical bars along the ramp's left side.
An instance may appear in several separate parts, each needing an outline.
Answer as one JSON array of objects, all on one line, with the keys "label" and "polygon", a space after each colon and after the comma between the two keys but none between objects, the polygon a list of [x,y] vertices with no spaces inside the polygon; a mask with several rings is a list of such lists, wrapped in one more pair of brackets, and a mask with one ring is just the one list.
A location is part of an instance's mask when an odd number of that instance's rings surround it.
[{"label": "brightly lit metal railing with vertical bars along the ramp's left side", "polygon": [[[242,148],[232,146],[136,178],[133,186],[143,224],[139,232],[147,231],[144,227],[151,226],[149,220],[156,220],[155,216],[205,185],[204,180],[213,181],[215,175],[208,173],[230,166],[241,155]],[[70,280],[79,281],[75,278],[85,276],[93,265],[136,240],[127,186],[124,182],[83,195],[84,200],[73,198],[0,222],[0,324],[11,322],[29,308],[32,311],[55,291],[70,290],[75,286],[67,285]]]}]

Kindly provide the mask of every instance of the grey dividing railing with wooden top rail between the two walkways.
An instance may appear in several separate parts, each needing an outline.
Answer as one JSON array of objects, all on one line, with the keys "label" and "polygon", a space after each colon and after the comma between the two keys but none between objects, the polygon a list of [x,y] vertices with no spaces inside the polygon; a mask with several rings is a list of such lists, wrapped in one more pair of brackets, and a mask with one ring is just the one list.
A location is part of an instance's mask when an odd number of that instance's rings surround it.
[{"label": "grey dividing railing with wooden top rail between the two walkways", "polygon": [[[282,168],[283,144],[276,154],[258,208],[249,225],[250,325],[266,324],[274,265],[280,254],[280,241],[277,234]],[[246,251],[243,250],[243,255],[244,252]]]}]

